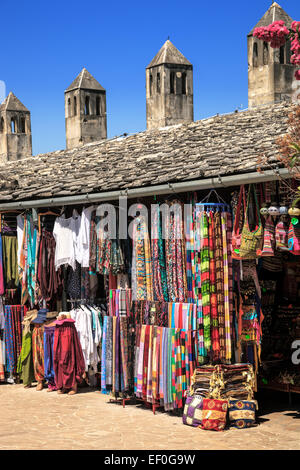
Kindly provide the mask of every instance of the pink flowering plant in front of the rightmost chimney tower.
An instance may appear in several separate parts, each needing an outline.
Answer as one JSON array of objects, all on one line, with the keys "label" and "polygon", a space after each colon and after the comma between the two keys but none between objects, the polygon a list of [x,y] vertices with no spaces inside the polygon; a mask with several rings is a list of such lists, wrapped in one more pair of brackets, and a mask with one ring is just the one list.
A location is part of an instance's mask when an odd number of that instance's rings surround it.
[{"label": "pink flowering plant in front of the rightmost chimney tower", "polygon": [[[300,65],[300,21],[293,21],[291,28],[285,26],[284,21],[274,21],[269,26],[255,28],[253,36],[269,42],[270,46],[278,49],[287,41],[291,41],[291,64]],[[295,72],[296,80],[300,80],[300,70]]]}]

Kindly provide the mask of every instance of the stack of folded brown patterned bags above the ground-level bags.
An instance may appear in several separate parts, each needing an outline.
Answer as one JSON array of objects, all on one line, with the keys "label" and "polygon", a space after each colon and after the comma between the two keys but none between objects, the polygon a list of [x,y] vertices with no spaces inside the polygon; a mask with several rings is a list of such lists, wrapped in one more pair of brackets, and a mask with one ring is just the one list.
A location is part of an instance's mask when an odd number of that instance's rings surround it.
[{"label": "stack of folded brown patterned bags above the ground-level bags", "polygon": [[201,366],[194,371],[190,394],[206,398],[251,400],[255,375],[251,364]]}]

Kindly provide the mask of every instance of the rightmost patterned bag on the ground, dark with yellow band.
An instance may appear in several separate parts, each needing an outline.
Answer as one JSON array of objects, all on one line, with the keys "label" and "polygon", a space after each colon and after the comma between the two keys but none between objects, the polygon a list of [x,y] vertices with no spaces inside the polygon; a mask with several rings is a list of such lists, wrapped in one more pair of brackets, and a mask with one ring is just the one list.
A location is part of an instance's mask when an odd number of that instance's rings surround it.
[{"label": "rightmost patterned bag on the ground, dark with yellow band", "polygon": [[228,411],[230,426],[238,429],[250,428],[255,423],[255,400],[229,400]]}]

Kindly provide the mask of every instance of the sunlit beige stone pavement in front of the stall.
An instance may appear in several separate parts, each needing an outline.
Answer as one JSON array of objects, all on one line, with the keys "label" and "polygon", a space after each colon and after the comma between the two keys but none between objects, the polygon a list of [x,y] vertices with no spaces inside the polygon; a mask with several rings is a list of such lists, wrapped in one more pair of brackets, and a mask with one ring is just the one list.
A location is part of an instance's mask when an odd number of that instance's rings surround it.
[{"label": "sunlit beige stone pavement in front of the stall", "polygon": [[299,405],[264,412],[255,428],[213,432],[184,426],[179,416],[153,415],[142,405],[123,409],[108,400],[89,388],[68,396],[0,384],[0,450],[300,450]]}]

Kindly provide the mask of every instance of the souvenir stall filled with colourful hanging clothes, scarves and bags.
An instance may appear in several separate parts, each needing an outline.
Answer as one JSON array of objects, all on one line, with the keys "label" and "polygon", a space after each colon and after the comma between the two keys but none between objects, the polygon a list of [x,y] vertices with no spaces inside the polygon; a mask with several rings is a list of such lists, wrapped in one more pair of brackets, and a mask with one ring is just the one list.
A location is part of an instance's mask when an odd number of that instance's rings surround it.
[{"label": "souvenir stall filled with colourful hanging clothes, scarves and bags", "polygon": [[93,386],[203,429],[253,425],[260,387],[300,384],[295,191],[130,200],[125,237],[116,203],[115,230],[100,203],[0,211],[0,381]]}]

